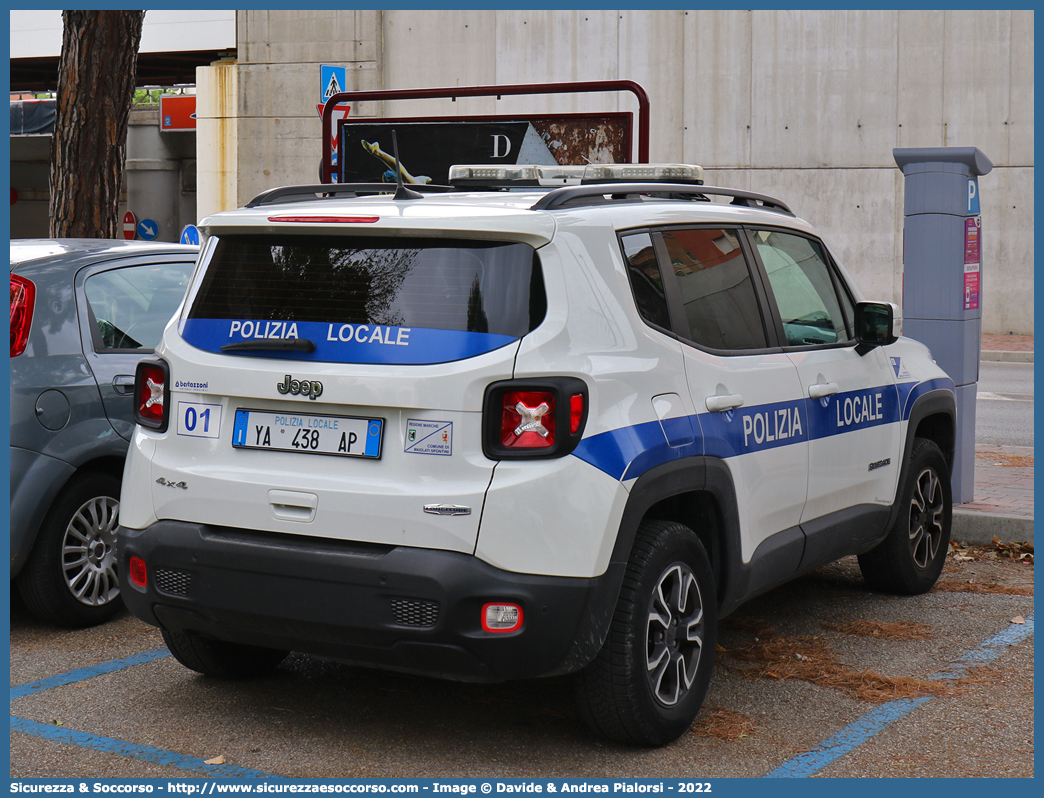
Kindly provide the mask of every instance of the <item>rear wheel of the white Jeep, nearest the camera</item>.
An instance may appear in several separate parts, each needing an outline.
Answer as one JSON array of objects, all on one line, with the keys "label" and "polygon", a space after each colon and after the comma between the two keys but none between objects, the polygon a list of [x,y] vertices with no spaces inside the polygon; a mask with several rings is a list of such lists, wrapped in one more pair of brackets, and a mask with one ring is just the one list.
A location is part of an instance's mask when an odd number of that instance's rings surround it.
[{"label": "rear wheel of the white Jeep, nearest the camera", "polygon": [[714,578],[699,539],[680,523],[643,522],[606,641],[576,678],[585,722],[620,743],[677,740],[704,702],[716,640]]}]

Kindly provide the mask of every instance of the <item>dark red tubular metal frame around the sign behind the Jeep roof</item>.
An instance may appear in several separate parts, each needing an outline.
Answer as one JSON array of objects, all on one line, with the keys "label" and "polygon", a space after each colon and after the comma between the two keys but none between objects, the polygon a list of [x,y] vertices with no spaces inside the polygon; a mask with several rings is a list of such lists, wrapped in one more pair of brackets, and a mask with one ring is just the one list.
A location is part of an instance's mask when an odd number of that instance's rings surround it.
[{"label": "dark red tubular metal frame around the sign behind the Jeep roof", "polygon": [[[356,105],[366,100],[389,99],[434,99],[450,97],[501,97],[518,94],[584,94],[591,92],[627,91],[638,98],[638,163],[648,163],[649,160],[649,98],[639,84],[634,80],[583,80],[562,84],[513,84],[507,86],[453,86],[440,89],[380,89],[375,91],[341,92],[334,94],[323,107],[323,175],[324,183],[330,182],[333,171],[331,160],[333,144],[327,131],[330,130],[330,117],[338,104]],[[530,114],[529,116],[538,116]],[[540,114],[539,116],[550,116]],[[452,117],[456,119],[457,117]],[[360,119],[360,121],[362,121]],[[382,121],[366,118],[367,122]]]}]

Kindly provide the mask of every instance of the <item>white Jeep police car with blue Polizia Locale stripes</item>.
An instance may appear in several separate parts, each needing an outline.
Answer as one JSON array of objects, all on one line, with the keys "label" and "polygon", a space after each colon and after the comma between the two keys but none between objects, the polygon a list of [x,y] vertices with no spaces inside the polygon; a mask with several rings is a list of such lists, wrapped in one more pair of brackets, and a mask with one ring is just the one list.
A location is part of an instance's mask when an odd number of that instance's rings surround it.
[{"label": "white Jeep police car with blue Polizia Locale stripes", "polygon": [[896,307],[777,199],[577,169],[201,222],[120,508],[123,596],[181,662],[576,673],[595,730],[660,745],[742,602],[846,555],[934,584],[953,383]]}]

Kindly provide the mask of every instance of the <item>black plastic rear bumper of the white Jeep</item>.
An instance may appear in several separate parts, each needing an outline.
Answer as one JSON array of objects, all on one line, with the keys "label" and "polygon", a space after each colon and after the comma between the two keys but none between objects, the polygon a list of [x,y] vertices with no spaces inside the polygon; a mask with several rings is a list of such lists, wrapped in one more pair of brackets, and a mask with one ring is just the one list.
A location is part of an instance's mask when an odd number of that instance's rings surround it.
[{"label": "black plastic rear bumper of the white Jeep", "polygon": [[[466,681],[570,673],[597,654],[622,566],[594,579],[512,573],[455,551],[181,521],[119,531],[130,611],[172,631]],[[130,557],[148,586],[126,579]],[[482,606],[522,607],[484,632]]]}]

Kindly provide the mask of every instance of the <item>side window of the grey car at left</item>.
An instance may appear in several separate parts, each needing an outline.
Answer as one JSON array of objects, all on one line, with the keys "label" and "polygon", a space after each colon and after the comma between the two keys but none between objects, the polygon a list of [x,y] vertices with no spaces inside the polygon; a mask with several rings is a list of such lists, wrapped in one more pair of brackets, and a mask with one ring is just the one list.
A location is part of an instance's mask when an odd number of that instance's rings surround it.
[{"label": "side window of the grey car at left", "polygon": [[185,296],[193,263],[149,263],[87,278],[94,350],[155,349]]}]

